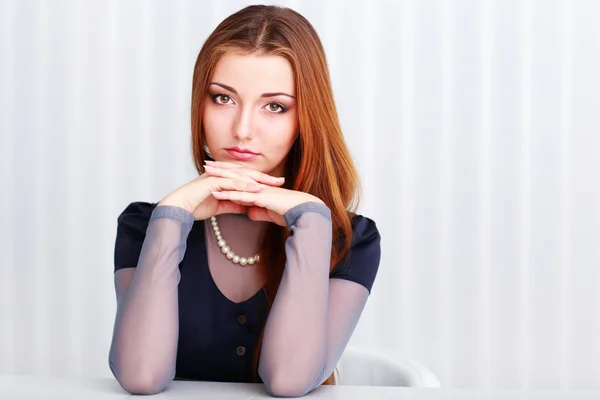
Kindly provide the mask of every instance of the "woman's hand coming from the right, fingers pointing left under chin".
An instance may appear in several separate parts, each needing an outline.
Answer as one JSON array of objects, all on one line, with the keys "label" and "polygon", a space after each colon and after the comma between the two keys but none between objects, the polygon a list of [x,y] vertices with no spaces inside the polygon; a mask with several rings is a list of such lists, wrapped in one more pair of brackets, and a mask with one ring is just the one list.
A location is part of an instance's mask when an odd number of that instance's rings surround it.
[{"label": "woman's hand coming from the right, fingers pointing left under chin", "polygon": [[[243,173],[250,178],[261,174],[253,169],[242,165],[227,163],[223,161],[210,162],[209,175],[227,178],[230,171],[235,169],[236,173]],[[262,180],[265,181],[264,179]],[[229,200],[248,207],[248,217],[254,221],[273,222],[281,226],[287,226],[283,215],[295,206],[306,202],[318,202],[325,204],[321,199],[309,193],[281,187],[264,185],[260,192],[219,191],[212,192],[217,200]]]}]

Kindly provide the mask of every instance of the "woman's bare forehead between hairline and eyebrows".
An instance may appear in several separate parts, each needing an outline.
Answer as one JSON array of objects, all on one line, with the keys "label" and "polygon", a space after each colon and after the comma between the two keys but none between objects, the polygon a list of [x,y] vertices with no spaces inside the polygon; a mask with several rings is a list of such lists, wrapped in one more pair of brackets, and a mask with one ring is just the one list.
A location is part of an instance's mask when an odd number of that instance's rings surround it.
[{"label": "woman's bare forehead between hairline and eyebrows", "polygon": [[227,52],[217,63],[212,81],[229,85],[240,94],[296,94],[292,65],[285,57],[276,55]]}]

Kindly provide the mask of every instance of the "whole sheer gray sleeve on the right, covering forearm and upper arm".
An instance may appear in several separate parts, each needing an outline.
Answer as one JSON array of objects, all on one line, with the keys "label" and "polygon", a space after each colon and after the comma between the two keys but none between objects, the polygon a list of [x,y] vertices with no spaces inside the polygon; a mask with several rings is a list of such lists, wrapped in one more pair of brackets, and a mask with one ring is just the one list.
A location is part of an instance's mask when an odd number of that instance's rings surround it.
[{"label": "whole sheer gray sleeve on the right, covering forearm and upper arm", "polygon": [[[287,261],[267,319],[259,375],[270,394],[302,396],[334,371],[369,296],[356,282],[329,279],[330,210],[304,203],[289,210]],[[379,262],[379,260],[373,260]]]}]

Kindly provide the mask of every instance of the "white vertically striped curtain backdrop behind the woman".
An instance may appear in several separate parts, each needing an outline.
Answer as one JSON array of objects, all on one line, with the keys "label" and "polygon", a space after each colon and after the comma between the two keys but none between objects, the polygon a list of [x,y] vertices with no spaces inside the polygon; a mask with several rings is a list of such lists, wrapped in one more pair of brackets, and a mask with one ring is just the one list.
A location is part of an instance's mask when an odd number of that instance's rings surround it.
[{"label": "white vertically striped curtain backdrop behind the woman", "polygon": [[[194,177],[194,61],[246,4],[0,0],[0,373],[110,376],[116,218]],[[278,4],[323,40],[382,234],[352,344],[600,389],[600,2]]]}]

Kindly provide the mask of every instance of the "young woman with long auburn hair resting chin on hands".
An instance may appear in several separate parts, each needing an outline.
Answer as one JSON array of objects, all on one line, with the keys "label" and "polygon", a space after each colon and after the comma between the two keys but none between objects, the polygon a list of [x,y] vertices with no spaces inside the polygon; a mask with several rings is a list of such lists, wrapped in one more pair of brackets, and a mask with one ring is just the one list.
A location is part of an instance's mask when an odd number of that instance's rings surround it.
[{"label": "young woman with long auburn hair resting chin on hands", "polygon": [[375,223],[321,42],[297,12],[250,6],[202,47],[193,77],[199,176],[118,219],[110,368],[130,393],[173,379],[335,383],[377,274]]}]

